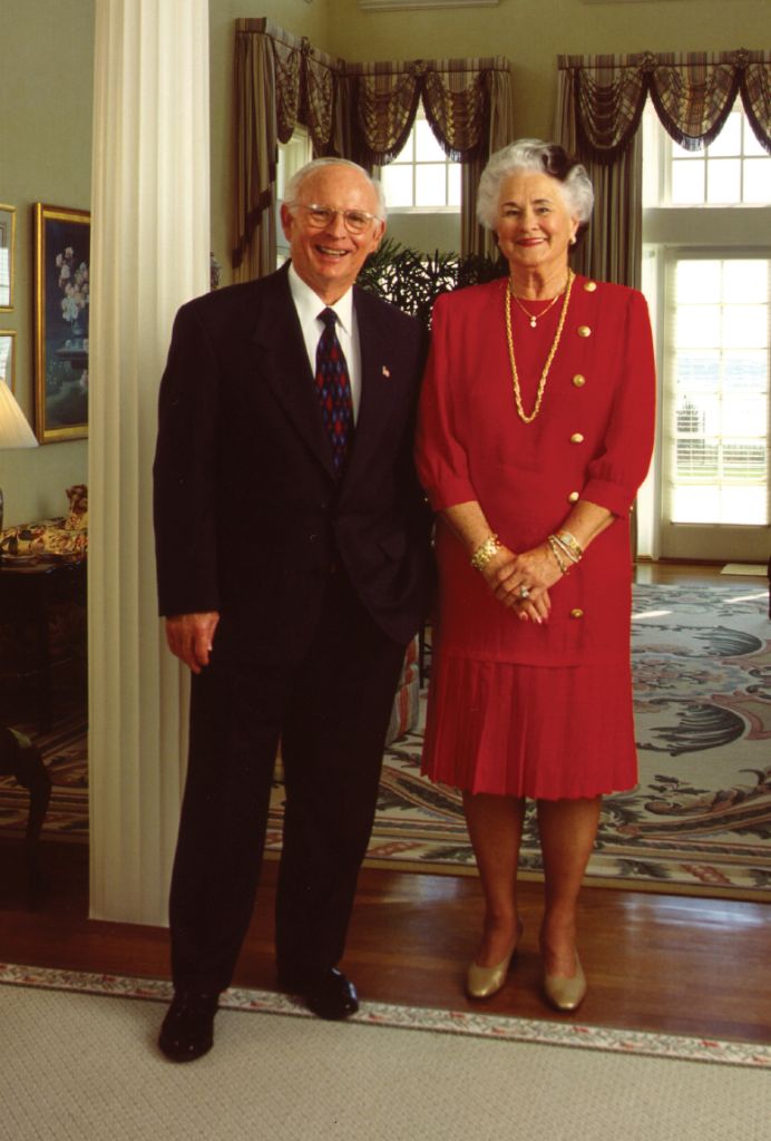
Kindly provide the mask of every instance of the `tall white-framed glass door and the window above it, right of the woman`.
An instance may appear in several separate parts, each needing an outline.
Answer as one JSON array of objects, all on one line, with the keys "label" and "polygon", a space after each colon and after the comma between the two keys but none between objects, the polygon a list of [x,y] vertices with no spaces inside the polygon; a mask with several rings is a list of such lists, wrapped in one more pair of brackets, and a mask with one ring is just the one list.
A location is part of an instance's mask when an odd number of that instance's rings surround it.
[{"label": "tall white-framed glass door and the window above it, right of the woman", "polygon": [[643,289],[662,382],[658,549],[765,561],[771,156],[738,105],[696,152],[674,143],[649,105],[643,171]]}]

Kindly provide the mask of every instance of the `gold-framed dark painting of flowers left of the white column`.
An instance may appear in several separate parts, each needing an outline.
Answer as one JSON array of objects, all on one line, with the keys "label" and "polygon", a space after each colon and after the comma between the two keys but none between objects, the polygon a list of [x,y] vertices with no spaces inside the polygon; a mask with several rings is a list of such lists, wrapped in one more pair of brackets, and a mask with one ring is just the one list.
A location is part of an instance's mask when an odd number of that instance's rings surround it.
[{"label": "gold-framed dark painting of flowers left of the white column", "polygon": [[91,216],[36,202],[35,434],[41,444],[88,435]]}]

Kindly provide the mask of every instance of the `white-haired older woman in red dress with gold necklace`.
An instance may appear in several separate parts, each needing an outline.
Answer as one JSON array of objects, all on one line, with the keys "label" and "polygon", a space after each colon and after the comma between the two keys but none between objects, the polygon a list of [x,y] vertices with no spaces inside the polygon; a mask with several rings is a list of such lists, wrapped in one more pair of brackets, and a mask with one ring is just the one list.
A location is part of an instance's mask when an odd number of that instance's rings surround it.
[{"label": "white-haired older woman in red dress with gold necklace", "polygon": [[466,990],[505,984],[533,798],[559,1010],[586,992],[576,905],[601,796],[636,780],[628,513],[654,436],[646,302],[568,265],[592,205],[561,147],[493,155],[478,212],[509,276],[437,301],[417,435],[440,570],[423,768],[463,791],[486,901]]}]

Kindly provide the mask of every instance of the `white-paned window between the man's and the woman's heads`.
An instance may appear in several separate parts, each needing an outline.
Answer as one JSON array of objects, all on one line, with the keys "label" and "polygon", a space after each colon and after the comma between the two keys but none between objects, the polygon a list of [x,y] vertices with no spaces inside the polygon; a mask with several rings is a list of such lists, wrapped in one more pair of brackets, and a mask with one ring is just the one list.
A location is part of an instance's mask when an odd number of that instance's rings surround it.
[{"label": "white-paned window between the man's and the woman's heads", "polygon": [[398,156],[381,167],[389,213],[399,210],[460,212],[461,164],[451,162],[422,108]]}]

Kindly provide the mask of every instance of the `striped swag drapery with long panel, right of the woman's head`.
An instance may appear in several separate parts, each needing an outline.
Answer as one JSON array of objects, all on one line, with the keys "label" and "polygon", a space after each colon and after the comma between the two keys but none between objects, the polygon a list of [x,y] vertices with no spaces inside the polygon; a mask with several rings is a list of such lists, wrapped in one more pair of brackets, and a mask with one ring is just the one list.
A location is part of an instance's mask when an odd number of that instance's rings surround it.
[{"label": "striped swag drapery with long panel, right of the woman's head", "polygon": [[763,51],[560,56],[554,137],[582,160],[596,202],[576,268],[640,286],[642,138],[650,96],[672,138],[688,151],[708,146],[737,97],[771,153],[771,55]]}]

